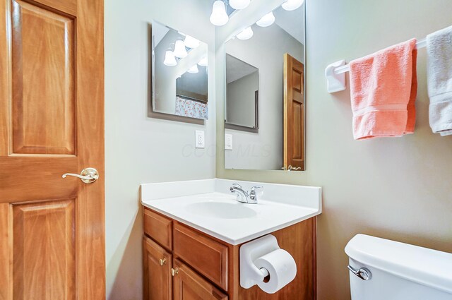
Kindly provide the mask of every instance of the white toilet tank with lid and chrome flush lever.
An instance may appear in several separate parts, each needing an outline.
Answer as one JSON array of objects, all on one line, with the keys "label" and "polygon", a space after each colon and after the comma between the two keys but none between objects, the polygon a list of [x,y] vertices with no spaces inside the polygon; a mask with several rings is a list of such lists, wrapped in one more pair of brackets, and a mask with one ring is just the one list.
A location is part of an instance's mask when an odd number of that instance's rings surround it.
[{"label": "white toilet tank with lid and chrome flush lever", "polygon": [[451,253],[364,234],[345,253],[352,270],[369,272],[349,271],[352,300],[452,300]]}]

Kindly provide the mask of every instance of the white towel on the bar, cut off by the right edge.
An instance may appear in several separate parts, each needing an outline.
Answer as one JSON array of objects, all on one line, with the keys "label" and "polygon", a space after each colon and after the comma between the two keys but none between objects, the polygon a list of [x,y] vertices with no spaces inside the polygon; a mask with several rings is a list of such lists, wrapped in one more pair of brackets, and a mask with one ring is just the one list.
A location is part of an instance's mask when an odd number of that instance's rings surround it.
[{"label": "white towel on the bar, cut off by the right edge", "polygon": [[452,134],[452,26],[427,35],[429,123],[434,133]]}]

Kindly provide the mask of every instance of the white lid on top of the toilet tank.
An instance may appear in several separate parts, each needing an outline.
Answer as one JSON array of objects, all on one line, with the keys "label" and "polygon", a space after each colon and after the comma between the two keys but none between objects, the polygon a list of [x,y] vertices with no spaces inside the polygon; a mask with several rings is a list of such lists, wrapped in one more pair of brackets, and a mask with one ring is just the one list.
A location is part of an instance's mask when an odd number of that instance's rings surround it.
[{"label": "white lid on top of the toilet tank", "polygon": [[345,253],[369,267],[452,294],[452,253],[365,234],[354,236]]}]

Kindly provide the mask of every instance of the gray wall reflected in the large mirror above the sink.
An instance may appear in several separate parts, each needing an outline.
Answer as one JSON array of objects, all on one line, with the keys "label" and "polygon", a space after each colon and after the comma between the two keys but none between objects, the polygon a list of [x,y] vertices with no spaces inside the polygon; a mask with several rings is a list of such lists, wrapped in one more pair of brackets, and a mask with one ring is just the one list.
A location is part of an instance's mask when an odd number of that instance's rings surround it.
[{"label": "gray wall reflected in the large mirror above the sink", "polygon": [[[302,16],[300,16],[302,18]],[[283,167],[284,54],[304,61],[303,45],[278,25],[253,26],[249,40],[229,40],[227,54],[259,69],[259,132],[226,129],[233,150],[225,150],[227,169],[280,169]],[[218,52],[218,55],[223,55]],[[224,66],[217,65],[218,68]]]}]

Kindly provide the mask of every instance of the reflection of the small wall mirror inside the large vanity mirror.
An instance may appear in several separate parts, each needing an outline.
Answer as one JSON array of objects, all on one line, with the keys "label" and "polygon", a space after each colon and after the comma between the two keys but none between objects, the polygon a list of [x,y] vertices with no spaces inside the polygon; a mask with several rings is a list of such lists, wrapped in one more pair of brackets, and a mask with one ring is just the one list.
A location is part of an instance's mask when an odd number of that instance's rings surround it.
[{"label": "reflection of the small wall mirror inside the large vanity mirror", "polygon": [[225,128],[258,132],[259,70],[226,54]]}]

